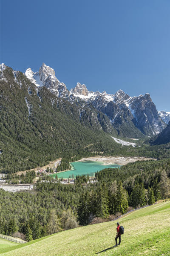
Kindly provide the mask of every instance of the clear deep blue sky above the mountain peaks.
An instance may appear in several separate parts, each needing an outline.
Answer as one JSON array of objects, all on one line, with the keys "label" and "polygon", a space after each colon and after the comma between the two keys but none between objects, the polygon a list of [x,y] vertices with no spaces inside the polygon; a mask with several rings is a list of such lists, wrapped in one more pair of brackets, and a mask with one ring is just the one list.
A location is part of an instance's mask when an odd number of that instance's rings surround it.
[{"label": "clear deep blue sky above the mountain peaks", "polygon": [[0,62],[170,112],[170,0],[1,0]]}]

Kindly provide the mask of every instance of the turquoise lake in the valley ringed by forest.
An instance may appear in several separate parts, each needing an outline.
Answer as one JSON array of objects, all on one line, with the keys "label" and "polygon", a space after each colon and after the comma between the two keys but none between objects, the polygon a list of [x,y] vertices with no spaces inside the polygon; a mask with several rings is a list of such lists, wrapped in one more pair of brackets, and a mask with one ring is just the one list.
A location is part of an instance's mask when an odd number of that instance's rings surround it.
[{"label": "turquoise lake in the valley ringed by forest", "polygon": [[[99,161],[79,161],[79,162],[71,162],[70,165],[72,166],[70,171],[64,171],[57,174],[58,178],[76,178],[77,175],[89,175],[95,176],[97,171],[101,171],[105,168],[118,168],[121,165],[110,164],[106,165],[105,162]],[[55,177],[56,174],[53,174]]]}]

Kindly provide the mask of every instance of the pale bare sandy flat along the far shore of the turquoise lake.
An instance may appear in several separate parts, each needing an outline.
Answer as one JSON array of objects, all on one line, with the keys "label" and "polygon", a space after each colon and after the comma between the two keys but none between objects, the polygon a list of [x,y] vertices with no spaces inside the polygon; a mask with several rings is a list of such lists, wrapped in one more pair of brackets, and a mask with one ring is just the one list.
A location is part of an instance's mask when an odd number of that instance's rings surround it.
[{"label": "pale bare sandy flat along the far shore of the turquoise lake", "polygon": [[139,156],[136,156],[136,157],[93,156],[93,157],[82,158],[76,162],[99,161],[99,162],[104,162],[105,165],[110,165],[110,164],[126,165],[130,162],[147,161],[147,160],[157,160],[157,159],[147,158],[147,157],[139,157]]}]

